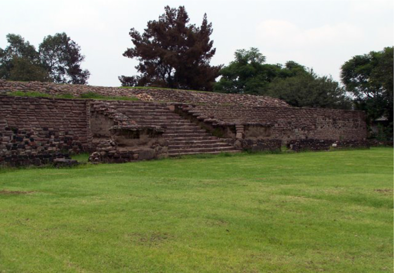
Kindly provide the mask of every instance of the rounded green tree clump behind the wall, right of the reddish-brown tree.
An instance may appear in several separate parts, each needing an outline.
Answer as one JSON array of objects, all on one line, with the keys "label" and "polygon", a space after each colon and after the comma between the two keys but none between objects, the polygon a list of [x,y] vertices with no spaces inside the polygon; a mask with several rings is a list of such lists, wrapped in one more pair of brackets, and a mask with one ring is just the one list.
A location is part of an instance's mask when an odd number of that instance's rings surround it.
[{"label": "rounded green tree clump behind the wall, right of the reddish-brown tree", "polygon": [[267,95],[297,107],[351,108],[346,91],[331,77],[319,77],[295,61],[266,64],[258,48],[236,50],[234,56],[220,70],[215,91]]}]

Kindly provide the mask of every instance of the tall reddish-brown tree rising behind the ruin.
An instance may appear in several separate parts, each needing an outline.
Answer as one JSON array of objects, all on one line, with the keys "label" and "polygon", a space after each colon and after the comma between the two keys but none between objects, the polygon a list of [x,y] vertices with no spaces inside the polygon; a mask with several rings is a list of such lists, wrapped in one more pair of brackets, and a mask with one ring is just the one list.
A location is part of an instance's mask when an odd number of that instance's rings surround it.
[{"label": "tall reddish-brown tree rising behind the ruin", "polygon": [[136,69],[141,76],[119,79],[131,80],[122,84],[212,91],[221,68],[209,65],[216,52],[209,38],[212,24],[208,24],[206,14],[201,26],[188,24],[184,6],[164,9],[157,21],[148,22],[142,35],[134,28],[130,30],[134,47],[123,56],[139,60]]}]

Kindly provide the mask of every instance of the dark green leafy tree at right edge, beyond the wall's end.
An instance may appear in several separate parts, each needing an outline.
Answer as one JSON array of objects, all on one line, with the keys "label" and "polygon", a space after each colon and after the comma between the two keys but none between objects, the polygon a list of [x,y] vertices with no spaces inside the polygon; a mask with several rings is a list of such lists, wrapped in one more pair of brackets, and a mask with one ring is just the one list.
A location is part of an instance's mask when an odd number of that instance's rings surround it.
[{"label": "dark green leafy tree at right edge, beyond the wall's end", "polygon": [[370,121],[386,117],[390,123],[384,130],[393,137],[393,47],[357,55],[341,67],[346,90],[355,97],[357,109],[365,110]]}]

